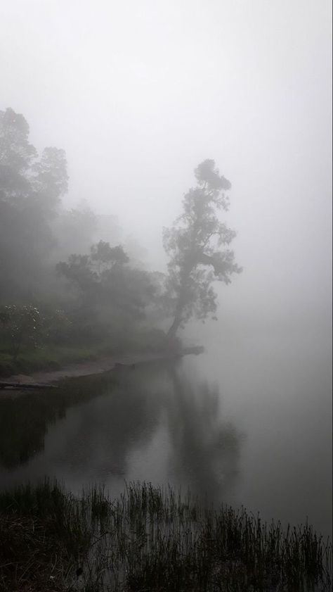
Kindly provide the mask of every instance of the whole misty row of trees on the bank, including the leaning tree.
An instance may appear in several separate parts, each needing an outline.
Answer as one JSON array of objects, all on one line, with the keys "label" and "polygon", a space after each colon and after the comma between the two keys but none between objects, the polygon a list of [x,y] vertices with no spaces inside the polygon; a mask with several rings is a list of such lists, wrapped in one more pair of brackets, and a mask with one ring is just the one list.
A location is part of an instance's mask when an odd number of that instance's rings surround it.
[{"label": "whole misty row of trees on the bank, including the leaning tree", "polygon": [[135,241],[121,241],[114,216],[84,202],[65,207],[65,151],[39,154],[29,134],[23,115],[0,111],[2,374],[101,353],[179,348],[176,333],[193,317],[216,319],[214,282],[230,283],[241,268],[229,246],[235,231],[218,218],[228,210],[231,184],[214,160],[195,168],[196,186],[163,230],[164,274],[140,263]]}]

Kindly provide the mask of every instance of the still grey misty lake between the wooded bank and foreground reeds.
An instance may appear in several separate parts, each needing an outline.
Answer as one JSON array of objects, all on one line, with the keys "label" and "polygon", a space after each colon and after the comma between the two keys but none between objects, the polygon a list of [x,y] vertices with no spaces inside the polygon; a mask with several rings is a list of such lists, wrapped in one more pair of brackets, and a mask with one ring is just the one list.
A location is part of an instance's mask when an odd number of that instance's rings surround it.
[{"label": "still grey misty lake between the wooded bank and foreground reeds", "polygon": [[0,400],[1,488],[48,475],[188,486],[283,524],[332,532],[329,336],[215,332],[202,355],[68,379]]}]

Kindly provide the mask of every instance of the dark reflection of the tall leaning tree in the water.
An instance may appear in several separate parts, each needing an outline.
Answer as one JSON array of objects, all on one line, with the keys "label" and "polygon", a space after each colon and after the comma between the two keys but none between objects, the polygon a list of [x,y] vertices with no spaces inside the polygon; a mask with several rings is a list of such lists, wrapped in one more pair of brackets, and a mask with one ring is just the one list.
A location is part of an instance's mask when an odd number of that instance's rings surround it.
[{"label": "dark reflection of the tall leaning tree in the water", "polygon": [[221,420],[221,397],[216,385],[190,382],[170,370],[174,397],[169,404],[170,458],[176,472],[200,496],[221,500],[237,479],[240,434]]}]

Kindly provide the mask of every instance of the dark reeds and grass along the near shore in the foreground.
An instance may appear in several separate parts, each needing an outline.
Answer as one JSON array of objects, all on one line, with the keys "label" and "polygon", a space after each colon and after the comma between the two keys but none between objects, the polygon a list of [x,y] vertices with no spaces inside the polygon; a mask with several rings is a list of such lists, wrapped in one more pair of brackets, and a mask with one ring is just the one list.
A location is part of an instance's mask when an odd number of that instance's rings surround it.
[{"label": "dark reeds and grass along the near shore in the foreground", "polygon": [[322,592],[331,574],[332,546],[308,524],[283,531],[189,492],[137,483],[75,498],[45,481],[0,494],[6,592]]}]

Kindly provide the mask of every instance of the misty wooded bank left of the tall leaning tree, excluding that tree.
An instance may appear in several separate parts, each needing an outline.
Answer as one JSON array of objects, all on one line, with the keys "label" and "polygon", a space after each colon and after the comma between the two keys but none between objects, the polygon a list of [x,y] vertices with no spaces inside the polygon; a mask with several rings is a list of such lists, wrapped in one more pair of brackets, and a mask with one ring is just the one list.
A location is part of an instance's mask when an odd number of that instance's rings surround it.
[{"label": "misty wooded bank left of the tall leaning tree, excluding that tree", "polygon": [[65,207],[65,152],[39,155],[29,134],[23,115],[0,111],[0,371],[162,348],[164,275],[119,244],[115,217]]}]

